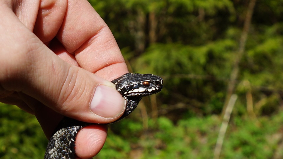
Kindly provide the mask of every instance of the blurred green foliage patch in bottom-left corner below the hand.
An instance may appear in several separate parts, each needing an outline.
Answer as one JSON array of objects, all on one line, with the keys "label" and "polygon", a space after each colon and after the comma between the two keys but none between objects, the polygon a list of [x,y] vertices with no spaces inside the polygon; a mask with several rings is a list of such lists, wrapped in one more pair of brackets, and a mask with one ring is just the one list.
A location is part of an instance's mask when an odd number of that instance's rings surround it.
[{"label": "blurred green foliage patch in bottom-left corner below the hand", "polygon": [[47,139],[33,115],[0,103],[0,158],[43,158]]}]

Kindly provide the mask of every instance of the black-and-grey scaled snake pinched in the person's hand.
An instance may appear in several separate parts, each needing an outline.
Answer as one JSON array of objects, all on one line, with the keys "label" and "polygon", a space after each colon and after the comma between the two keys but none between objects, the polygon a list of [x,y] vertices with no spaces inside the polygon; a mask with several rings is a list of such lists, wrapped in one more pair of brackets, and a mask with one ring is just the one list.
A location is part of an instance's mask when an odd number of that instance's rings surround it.
[{"label": "black-and-grey scaled snake pinched in the person's hand", "polygon": [[[111,82],[126,102],[123,115],[114,122],[131,114],[142,97],[158,93],[163,88],[163,79],[153,74],[126,73]],[[75,159],[75,139],[78,132],[93,124],[95,123],[64,117],[48,141],[44,159]]]}]

